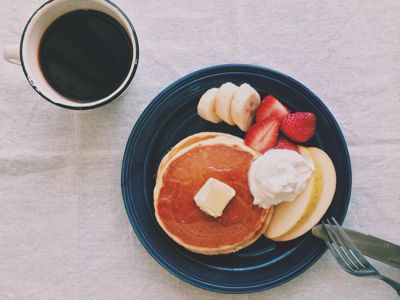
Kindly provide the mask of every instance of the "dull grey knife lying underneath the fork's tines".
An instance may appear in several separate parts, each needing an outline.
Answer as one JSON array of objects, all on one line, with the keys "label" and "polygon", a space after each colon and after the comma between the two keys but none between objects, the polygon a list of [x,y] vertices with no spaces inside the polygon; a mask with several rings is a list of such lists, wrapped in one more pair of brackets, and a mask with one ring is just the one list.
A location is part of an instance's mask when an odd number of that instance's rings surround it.
[{"label": "dull grey knife lying underneath the fork's tines", "polygon": [[[343,229],[360,249],[362,254],[400,269],[400,246],[372,235],[351,229]],[[321,225],[315,226],[312,229],[312,234],[322,240],[328,240],[328,235]]]}]

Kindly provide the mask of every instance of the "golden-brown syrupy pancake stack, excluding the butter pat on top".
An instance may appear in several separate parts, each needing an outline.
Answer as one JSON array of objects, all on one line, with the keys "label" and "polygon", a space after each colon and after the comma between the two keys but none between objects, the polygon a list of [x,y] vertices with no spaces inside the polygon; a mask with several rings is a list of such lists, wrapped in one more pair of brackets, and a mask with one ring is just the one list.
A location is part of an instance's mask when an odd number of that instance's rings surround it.
[{"label": "golden-brown syrupy pancake stack, excluding the butter pat on top", "polygon": [[[158,223],[175,242],[201,254],[242,249],[266,230],[272,209],[253,205],[247,173],[258,152],[241,138],[217,132],[194,134],[179,142],[160,163],[154,188]],[[209,178],[235,189],[221,217],[196,205],[194,196]]]}]

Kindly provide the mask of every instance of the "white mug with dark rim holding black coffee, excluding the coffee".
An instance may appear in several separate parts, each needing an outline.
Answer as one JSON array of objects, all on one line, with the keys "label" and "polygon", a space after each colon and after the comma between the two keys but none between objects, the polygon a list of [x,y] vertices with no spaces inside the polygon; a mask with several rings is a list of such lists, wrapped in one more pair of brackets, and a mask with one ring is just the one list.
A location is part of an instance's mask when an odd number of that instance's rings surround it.
[{"label": "white mug with dark rim holding black coffee, excluding the coffee", "polygon": [[[107,97],[91,102],[77,102],[56,92],[44,78],[38,55],[41,38],[49,25],[66,13],[82,9],[96,10],[115,19],[127,32],[133,47],[131,67],[122,84]],[[44,99],[65,108],[90,109],[116,99],[128,87],[137,69],[139,44],[132,23],[123,11],[111,1],[50,0],[39,7],[29,19],[22,33],[20,45],[6,46],[3,55],[7,61],[22,65],[22,69],[29,83]]]}]

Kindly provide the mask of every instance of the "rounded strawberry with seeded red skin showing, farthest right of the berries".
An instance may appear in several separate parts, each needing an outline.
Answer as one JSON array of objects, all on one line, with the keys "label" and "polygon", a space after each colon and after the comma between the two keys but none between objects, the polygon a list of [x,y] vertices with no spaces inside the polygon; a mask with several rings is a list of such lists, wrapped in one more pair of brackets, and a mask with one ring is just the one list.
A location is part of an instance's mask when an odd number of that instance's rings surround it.
[{"label": "rounded strawberry with seeded red skin showing, farthest right of the berries", "polygon": [[315,134],[316,117],[310,112],[289,114],[282,119],[281,131],[295,142],[307,142]]}]

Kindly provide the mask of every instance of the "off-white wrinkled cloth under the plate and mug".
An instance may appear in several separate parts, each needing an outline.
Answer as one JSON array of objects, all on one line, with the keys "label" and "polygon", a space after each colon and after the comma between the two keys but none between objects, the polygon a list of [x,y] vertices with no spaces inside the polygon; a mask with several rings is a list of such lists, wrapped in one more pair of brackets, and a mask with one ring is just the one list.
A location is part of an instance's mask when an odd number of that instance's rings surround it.
[{"label": "off-white wrinkled cloth under the plate and mug", "polygon": [[[4,1],[2,46],[41,1]],[[400,244],[400,1],[116,0],[140,62],[119,100],[58,108],[0,62],[0,299],[397,299],[326,253],[289,283],[250,295],[192,287],[158,265],[126,216],[120,168],[146,105],[181,76],[215,64],[287,73],[327,104],[353,167],[345,224]],[[377,264],[400,281],[400,271]]]}]

